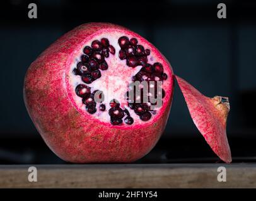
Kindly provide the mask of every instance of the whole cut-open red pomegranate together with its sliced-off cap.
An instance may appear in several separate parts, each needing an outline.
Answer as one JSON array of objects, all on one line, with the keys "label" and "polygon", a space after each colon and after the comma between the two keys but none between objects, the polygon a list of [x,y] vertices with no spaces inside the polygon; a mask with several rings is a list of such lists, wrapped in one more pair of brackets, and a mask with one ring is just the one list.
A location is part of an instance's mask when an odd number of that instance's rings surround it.
[{"label": "whole cut-open red pomegranate together with its sliced-off cap", "polygon": [[[143,37],[115,24],[88,23],[59,38],[30,65],[24,99],[45,143],[63,160],[128,163],[146,155],[163,133],[174,79],[170,63]],[[213,107],[177,80],[197,128],[230,162],[226,121],[217,111],[221,100]],[[199,97],[209,112],[190,107]],[[197,117],[201,114],[206,120]]]}]

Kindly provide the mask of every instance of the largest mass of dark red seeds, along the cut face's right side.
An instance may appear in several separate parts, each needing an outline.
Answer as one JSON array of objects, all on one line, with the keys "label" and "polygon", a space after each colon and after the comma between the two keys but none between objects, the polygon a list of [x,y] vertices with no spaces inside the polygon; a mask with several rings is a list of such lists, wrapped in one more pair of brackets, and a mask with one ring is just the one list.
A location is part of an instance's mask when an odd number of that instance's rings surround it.
[{"label": "largest mass of dark red seeds, along the cut face's right side", "polygon": [[[132,81],[139,81],[148,82],[149,87],[149,81],[154,81],[154,98],[156,99],[158,94],[157,90],[157,81],[162,81],[167,79],[166,73],[163,72],[163,65],[161,63],[154,63],[153,65],[148,63],[148,56],[150,55],[150,50],[146,49],[144,50],[144,47],[142,45],[137,44],[138,41],[136,38],[127,38],[127,36],[122,36],[119,38],[119,46],[121,50],[119,51],[119,58],[121,60],[126,59],[126,64],[129,67],[137,67],[138,65],[141,65],[143,68],[134,76],[132,77]],[[148,89],[149,91],[149,89]],[[129,99],[129,93],[134,93],[134,100],[131,102]],[[162,98],[165,96],[165,90],[161,90]],[[127,101],[128,106],[131,109],[134,109],[134,112],[139,115],[140,119],[142,121],[148,121],[151,118],[151,114],[155,114],[156,111],[152,110],[153,105],[156,105],[157,103],[151,103],[150,95],[148,95],[148,102],[143,103],[143,99],[141,99],[141,102],[136,102],[136,90],[132,89],[127,92]],[[141,89],[141,97],[143,97],[143,89]]]}]

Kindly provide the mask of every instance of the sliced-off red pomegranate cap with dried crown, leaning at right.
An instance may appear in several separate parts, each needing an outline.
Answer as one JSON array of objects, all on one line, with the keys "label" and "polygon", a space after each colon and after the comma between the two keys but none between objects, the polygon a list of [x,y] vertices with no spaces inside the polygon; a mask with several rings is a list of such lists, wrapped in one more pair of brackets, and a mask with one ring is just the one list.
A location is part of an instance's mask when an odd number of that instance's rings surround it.
[{"label": "sliced-off red pomegranate cap with dried crown, leaning at right", "polygon": [[226,137],[226,117],[229,108],[225,104],[214,104],[214,99],[206,97],[188,82],[175,75],[185,97],[190,115],[206,139],[209,146],[221,160],[231,163],[231,152]]}]

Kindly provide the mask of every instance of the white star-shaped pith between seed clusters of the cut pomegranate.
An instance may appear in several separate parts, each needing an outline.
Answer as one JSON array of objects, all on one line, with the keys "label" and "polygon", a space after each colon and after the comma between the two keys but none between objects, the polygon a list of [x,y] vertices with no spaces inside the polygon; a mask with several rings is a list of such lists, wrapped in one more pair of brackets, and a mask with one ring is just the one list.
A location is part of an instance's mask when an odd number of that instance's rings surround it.
[{"label": "white star-shaped pith between seed clusters of the cut pomegranate", "polygon": [[[127,36],[129,38],[129,40],[131,38],[134,38],[134,36],[127,35],[127,34],[124,35],[124,33],[119,33],[119,32],[115,33],[115,35],[113,35],[113,34],[109,35],[107,33],[102,33],[102,35],[98,35],[95,38],[93,38],[92,40],[88,41],[87,43],[84,43],[84,46],[81,48],[81,50],[77,54],[78,57],[76,57],[74,59],[74,62],[69,69],[69,84],[71,85],[71,88],[73,89],[72,95],[73,95],[74,102],[75,102],[76,106],[78,107],[78,109],[86,112],[91,117],[99,119],[102,122],[110,123],[110,115],[108,114],[108,110],[111,108],[110,101],[115,99],[115,100],[118,100],[118,102],[120,103],[120,108],[123,111],[124,111],[124,109],[127,109],[129,111],[130,116],[134,120],[132,125],[143,124],[144,122],[152,121],[154,119],[154,116],[156,116],[158,114],[158,111],[161,109],[161,107],[155,107],[154,111],[150,111],[151,118],[148,121],[142,121],[140,119],[139,115],[137,115],[136,112],[134,112],[134,110],[128,106],[127,95],[126,95],[127,91],[129,90],[128,86],[132,82],[132,80],[131,80],[132,77],[134,75],[136,75],[141,70],[142,66],[138,65],[136,67],[128,67],[126,64],[126,59],[120,60],[119,51],[121,50],[121,48],[119,46],[118,41],[121,36]],[[101,73],[101,77],[99,79],[96,79],[93,82],[91,82],[91,84],[86,84],[83,82],[80,75],[74,75],[73,70],[75,68],[77,68],[78,62],[81,62],[81,55],[84,55],[84,52],[83,52],[84,47],[85,46],[91,47],[92,41],[95,41],[95,40],[100,41],[102,38],[107,38],[109,41],[109,44],[115,48],[115,55],[112,55],[111,53],[109,53],[109,57],[105,58],[105,61],[108,64],[108,69],[107,70],[99,69],[100,73]],[[150,50],[150,55],[148,55],[148,57],[147,57],[148,58],[147,63],[153,65],[153,63],[159,62],[157,60],[157,57],[155,55],[153,55],[153,52],[151,51],[150,46],[148,44],[141,43],[139,38],[136,38],[136,39],[138,41],[137,45],[143,45],[144,50],[146,50],[146,49]],[[164,73],[167,73],[167,75],[168,75],[168,72],[165,72],[165,68],[164,68]],[[93,93],[93,91],[95,91],[95,90],[101,90],[103,92],[104,100],[103,100],[103,102],[96,102],[96,112],[95,113],[89,114],[88,111],[86,111],[85,104],[82,102],[83,98],[76,95],[76,87],[79,84],[84,84],[84,85],[90,87],[91,93]],[[162,82],[163,89],[165,89],[166,84],[170,84],[169,75],[167,77],[167,80],[164,80]],[[163,99],[162,99],[163,102],[165,101],[165,99],[166,99],[166,96],[163,97]],[[105,111],[100,111],[101,104],[105,105],[105,107],[106,107]],[[122,118],[121,125],[131,126],[131,125],[125,124],[125,121],[124,121],[125,117],[127,117],[127,114],[125,114],[125,116]]]}]

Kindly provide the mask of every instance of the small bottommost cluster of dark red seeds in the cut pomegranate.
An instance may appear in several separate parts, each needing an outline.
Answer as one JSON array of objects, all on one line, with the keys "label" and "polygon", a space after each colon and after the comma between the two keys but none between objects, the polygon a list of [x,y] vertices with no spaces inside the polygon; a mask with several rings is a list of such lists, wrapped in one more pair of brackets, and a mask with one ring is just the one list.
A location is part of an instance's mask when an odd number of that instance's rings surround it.
[{"label": "small bottommost cluster of dark red seeds in the cut pomegranate", "polygon": [[127,109],[122,109],[120,107],[120,104],[117,100],[113,99],[110,101],[110,109],[108,110],[108,114],[110,115],[110,122],[113,124],[113,125],[120,125],[122,124],[122,118],[124,116],[125,119],[124,119],[124,122],[126,124],[129,124],[131,125],[134,120],[132,119],[132,117],[130,116],[130,113]]}]

